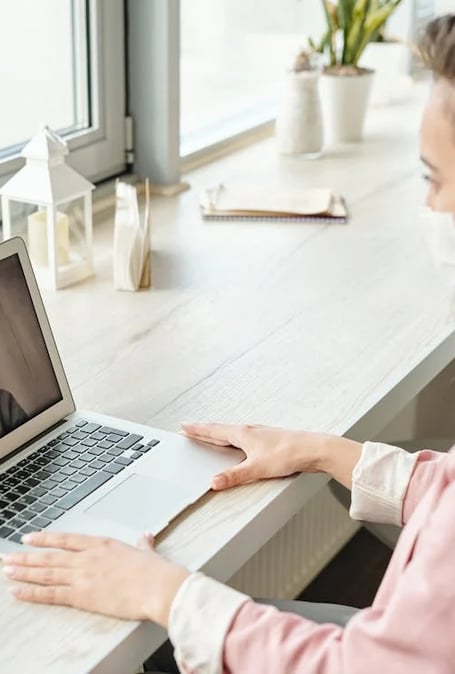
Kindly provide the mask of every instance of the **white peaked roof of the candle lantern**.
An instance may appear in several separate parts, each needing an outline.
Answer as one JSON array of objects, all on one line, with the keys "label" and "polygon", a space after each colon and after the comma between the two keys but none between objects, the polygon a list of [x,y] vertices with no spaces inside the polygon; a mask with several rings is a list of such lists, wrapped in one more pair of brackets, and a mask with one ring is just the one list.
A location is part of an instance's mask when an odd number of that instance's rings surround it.
[{"label": "white peaked roof of the candle lantern", "polygon": [[22,150],[25,165],[0,188],[0,195],[33,204],[56,204],[84,196],[95,188],[65,163],[68,146],[43,127]]}]

